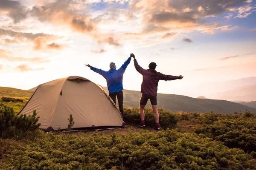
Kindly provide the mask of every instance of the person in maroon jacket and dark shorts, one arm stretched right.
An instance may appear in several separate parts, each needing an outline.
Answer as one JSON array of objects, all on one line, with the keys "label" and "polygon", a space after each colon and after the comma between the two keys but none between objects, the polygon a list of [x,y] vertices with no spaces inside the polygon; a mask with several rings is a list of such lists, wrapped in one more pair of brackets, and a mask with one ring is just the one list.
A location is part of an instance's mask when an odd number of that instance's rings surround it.
[{"label": "person in maroon jacket and dark shorts, one arm stretched right", "polygon": [[136,70],[143,75],[143,82],[141,85],[141,93],[142,96],[140,98],[140,127],[145,127],[145,113],[144,109],[148,102],[148,99],[150,99],[151,106],[154,113],[155,118],[155,130],[160,130],[160,124],[159,124],[159,114],[157,111],[157,85],[159,80],[175,80],[175,79],[182,79],[183,77],[180,76],[171,76],[171,75],[165,75],[160,72],[155,71],[157,64],[154,62],[151,62],[148,65],[147,70],[140,67],[137,60],[135,59],[134,54],[131,54],[132,57],[134,57],[134,66]]}]

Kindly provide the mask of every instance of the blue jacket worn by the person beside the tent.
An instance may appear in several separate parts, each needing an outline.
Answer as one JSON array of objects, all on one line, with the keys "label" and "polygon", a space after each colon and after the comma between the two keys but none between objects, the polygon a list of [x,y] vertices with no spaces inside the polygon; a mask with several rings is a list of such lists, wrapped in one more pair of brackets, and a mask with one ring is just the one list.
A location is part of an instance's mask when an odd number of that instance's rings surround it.
[{"label": "blue jacket worn by the person beside the tent", "polygon": [[91,67],[90,69],[96,73],[99,73],[107,80],[109,93],[116,93],[123,90],[122,77],[130,62],[131,58],[129,57],[118,70],[110,69],[109,71],[103,71],[95,67]]}]

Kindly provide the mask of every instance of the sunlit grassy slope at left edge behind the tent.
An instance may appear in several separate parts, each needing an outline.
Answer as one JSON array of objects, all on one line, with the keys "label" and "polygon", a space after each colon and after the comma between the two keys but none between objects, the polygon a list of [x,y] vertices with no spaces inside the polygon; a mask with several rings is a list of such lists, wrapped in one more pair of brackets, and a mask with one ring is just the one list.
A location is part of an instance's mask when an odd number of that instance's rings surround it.
[{"label": "sunlit grassy slope at left edge behind the tent", "polygon": [[11,96],[11,97],[31,97],[33,91],[20,90],[17,88],[7,88],[0,87],[0,97],[1,96]]}]

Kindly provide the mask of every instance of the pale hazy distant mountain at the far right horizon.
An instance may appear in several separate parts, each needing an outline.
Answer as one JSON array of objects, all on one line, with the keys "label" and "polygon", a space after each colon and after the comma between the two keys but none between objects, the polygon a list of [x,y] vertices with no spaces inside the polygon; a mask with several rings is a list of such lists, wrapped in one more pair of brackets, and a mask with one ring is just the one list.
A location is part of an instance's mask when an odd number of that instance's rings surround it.
[{"label": "pale hazy distant mountain at the far right horizon", "polygon": [[224,99],[229,101],[254,101],[256,100],[256,85],[243,86],[229,91],[209,95],[211,99]]}]

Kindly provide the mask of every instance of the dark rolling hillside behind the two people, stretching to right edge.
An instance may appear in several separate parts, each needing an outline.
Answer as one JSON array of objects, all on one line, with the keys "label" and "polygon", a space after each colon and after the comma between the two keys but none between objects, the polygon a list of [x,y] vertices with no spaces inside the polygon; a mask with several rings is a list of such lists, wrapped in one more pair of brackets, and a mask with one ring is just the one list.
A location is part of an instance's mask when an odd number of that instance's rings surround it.
[{"label": "dark rolling hillside behind the two people, stretching to right edge", "polygon": [[[104,87],[105,91],[108,89]],[[132,108],[139,107],[140,91],[124,90],[124,105]],[[116,100],[117,102],[117,100]],[[163,108],[172,112],[186,111],[205,113],[213,111],[215,113],[233,113],[234,111],[246,111],[256,113],[256,108],[241,105],[239,103],[213,100],[213,99],[195,99],[188,96],[175,94],[157,94],[158,108]],[[147,107],[151,107],[148,100]]]}]

